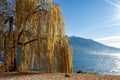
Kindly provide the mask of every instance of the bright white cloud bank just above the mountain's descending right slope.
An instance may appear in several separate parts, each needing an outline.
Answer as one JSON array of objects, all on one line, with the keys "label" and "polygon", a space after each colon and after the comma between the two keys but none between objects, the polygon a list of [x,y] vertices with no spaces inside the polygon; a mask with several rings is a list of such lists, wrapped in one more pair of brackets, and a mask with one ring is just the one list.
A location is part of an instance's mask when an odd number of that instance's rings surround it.
[{"label": "bright white cloud bank just above the mountain's descending right slope", "polygon": [[95,39],[95,41],[98,41],[108,46],[120,48],[120,36],[104,37]]}]

